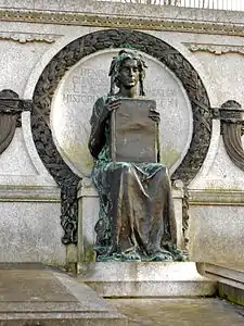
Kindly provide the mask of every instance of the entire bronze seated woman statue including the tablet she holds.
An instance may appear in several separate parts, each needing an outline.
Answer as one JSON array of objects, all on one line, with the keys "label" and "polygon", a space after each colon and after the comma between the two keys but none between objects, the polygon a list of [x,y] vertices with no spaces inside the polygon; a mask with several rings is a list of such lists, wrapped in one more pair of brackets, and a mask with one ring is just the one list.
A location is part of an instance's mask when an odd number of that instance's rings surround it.
[{"label": "entire bronze seated woman statue including the tablet she holds", "polygon": [[111,64],[111,91],[97,100],[90,120],[98,261],[185,259],[176,247],[170,178],[159,163],[160,117],[145,98],[145,68],[141,54],[121,50]]}]

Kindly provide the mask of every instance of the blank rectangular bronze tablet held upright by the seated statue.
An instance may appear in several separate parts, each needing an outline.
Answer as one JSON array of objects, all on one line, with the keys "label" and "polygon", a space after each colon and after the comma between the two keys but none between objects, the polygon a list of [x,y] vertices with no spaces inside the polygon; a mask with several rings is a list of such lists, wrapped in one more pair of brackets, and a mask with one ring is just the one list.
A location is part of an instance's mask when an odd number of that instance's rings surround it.
[{"label": "blank rectangular bronze tablet held upright by the seated statue", "polygon": [[116,162],[156,162],[156,123],[149,117],[156,102],[146,99],[120,99],[112,113],[111,154]]}]

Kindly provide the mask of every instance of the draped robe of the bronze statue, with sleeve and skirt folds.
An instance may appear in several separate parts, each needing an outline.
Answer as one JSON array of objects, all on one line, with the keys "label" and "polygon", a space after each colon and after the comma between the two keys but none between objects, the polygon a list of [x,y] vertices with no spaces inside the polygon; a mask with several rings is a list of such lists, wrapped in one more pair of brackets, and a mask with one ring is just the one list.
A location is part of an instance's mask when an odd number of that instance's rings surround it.
[{"label": "draped robe of the bronze statue, with sleeve and skirt folds", "polygon": [[[113,96],[116,98],[116,96]],[[165,243],[176,244],[170,178],[160,163],[114,162],[111,159],[111,113],[100,98],[90,120],[92,180],[100,198],[95,225],[97,256],[106,260],[174,260]]]}]

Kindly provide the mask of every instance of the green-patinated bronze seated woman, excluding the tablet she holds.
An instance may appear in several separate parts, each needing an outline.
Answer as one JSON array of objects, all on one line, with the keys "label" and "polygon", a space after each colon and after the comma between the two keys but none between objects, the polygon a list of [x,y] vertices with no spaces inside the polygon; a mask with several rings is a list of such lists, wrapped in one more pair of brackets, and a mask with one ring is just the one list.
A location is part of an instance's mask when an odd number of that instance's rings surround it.
[{"label": "green-patinated bronze seated woman, excluding the tablet she holds", "polygon": [[[112,114],[124,99],[144,98],[145,68],[141,54],[121,50],[111,64],[111,91],[98,99],[90,120],[92,179],[100,197],[95,225],[98,261],[183,260],[176,248],[176,218],[166,166],[157,160],[116,162],[111,156]],[[160,118],[155,109],[149,111],[149,120],[158,133]]]}]

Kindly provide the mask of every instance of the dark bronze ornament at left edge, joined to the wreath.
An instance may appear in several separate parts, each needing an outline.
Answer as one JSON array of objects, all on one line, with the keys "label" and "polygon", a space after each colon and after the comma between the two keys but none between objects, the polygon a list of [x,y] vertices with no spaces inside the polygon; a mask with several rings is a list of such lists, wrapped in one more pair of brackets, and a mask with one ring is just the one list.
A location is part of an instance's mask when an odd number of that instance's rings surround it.
[{"label": "dark bronze ornament at left edge, joined to the wreath", "polygon": [[0,91],[0,154],[11,143],[15,128],[21,127],[21,112],[26,110],[30,110],[29,102],[18,99],[15,91]]}]

